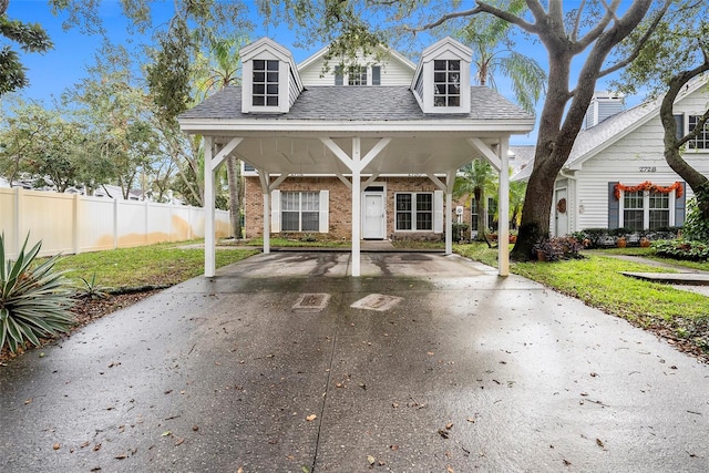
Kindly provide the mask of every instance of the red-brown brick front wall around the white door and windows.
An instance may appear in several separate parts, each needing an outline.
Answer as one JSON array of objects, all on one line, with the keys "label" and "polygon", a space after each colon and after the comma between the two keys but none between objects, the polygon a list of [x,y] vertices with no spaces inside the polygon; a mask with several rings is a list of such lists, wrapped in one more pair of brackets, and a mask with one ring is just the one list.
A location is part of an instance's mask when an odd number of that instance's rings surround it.
[{"label": "red-brown brick front wall around the white door and windows", "polygon": [[[258,177],[246,177],[244,196],[245,232],[247,238],[263,236],[264,233],[264,196],[261,194]],[[411,233],[394,232],[394,194],[398,192],[433,192],[438,187],[428,177],[380,177],[372,186],[384,186],[387,191],[387,237],[397,238],[428,238],[433,237],[431,232]],[[288,177],[280,185],[281,192],[329,191],[330,193],[330,232],[320,234],[321,238],[350,239],[352,235],[352,192],[337,177]],[[470,225],[470,199],[453,202],[452,213],[456,205],[464,205],[463,220]],[[453,222],[458,217],[453,214]]]}]

